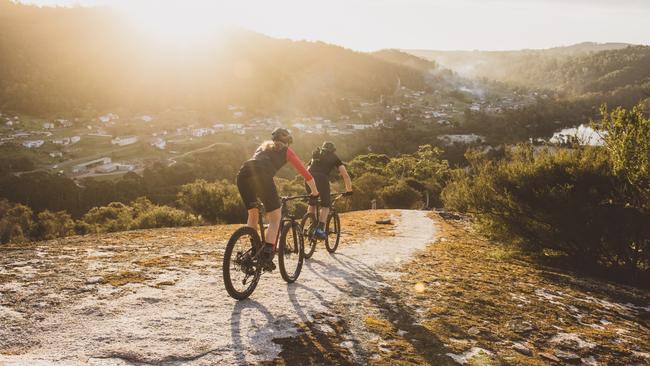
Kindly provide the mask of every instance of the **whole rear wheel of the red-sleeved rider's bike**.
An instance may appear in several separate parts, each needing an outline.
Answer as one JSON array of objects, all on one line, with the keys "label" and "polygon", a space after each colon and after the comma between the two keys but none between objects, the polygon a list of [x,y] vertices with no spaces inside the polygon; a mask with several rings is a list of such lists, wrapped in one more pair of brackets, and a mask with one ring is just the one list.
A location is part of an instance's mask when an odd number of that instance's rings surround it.
[{"label": "whole rear wheel of the red-sleeved rider's bike", "polygon": [[257,231],[245,226],[237,229],[223,255],[223,283],[228,294],[237,300],[249,297],[262,274],[256,251],[261,247]]}]

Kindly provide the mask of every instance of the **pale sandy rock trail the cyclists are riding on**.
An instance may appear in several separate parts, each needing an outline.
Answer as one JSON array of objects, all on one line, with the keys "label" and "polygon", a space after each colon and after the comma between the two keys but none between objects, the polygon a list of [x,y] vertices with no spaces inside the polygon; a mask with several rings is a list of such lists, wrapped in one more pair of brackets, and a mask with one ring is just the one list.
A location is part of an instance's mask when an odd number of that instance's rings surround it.
[{"label": "pale sandy rock trail the cyclists are riding on", "polygon": [[[20,355],[0,355],[0,365],[214,365],[248,364],[275,358],[273,339],[297,334],[297,323],[344,306],[363,312],[402,260],[433,241],[435,227],[426,213],[403,211],[394,237],[345,247],[328,254],[319,246],[293,285],[279,271],[262,277],[251,299],[226,294],[221,268],[178,268],[173,286],[128,284],[130,293],[110,298],[102,286],[72,306],[49,314],[37,325],[32,347]],[[160,281],[169,274],[161,273]],[[356,310],[355,310],[356,309]],[[327,315],[329,314],[329,315]],[[362,344],[362,333],[348,334]],[[354,350],[353,350],[354,351]],[[356,352],[358,353],[358,352]],[[353,352],[353,354],[356,354]]]}]

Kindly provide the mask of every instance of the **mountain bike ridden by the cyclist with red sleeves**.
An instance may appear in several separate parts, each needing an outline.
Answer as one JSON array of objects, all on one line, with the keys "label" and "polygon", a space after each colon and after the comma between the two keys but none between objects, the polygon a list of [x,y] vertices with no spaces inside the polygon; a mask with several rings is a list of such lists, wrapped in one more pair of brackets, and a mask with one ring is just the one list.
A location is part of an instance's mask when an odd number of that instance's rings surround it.
[{"label": "mountain bike ridden by the cyclist with red sleeves", "polygon": [[[297,219],[287,213],[287,202],[293,200],[304,200],[305,196],[282,197],[280,206],[280,230],[278,230],[278,264],[280,274],[287,283],[293,283],[298,279],[304,258],[302,228]],[[264,248],[264,205],[258,203],[260,210],[259,232],[258,230],[244,226],[237,229],[228,244],[223,255],[223,282],[228,294],[237,299],[243,300],[249,297],[260,280],[262,275],[262,250]]]}]

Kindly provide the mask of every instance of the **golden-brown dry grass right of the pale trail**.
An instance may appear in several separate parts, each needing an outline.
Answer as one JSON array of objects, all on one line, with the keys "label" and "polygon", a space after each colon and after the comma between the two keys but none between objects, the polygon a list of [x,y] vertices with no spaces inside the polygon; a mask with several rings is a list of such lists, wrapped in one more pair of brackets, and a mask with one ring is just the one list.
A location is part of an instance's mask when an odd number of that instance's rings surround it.
[{"label": "golden-brown dry grass right of the pale trail", "polygon": [[[491,351],[493,356],[475,360],[483,364],[546,365],[543,355],[556,351],[573,352],[583,362],[593,357],[599,364],[650,364],[650,313],[624,305],[650,305],[647,291],[540,267],[473,233],[466,222],[432,218],[441,229],[439,239],[392,284],[390,296],[398,299],[401,314],[385,314],[403,329],[419,319],[422,329],[415,330],[449,352],[472,347]],[[560,333],[594,346],[552,342]],[[391,335],[386,362],[378,364],[412,357],[418,342],[411,331],[404,337]],[[531,355],[515,351],[514,342],[525,344]],[[407,364],[422,360],[416,361]]]}]

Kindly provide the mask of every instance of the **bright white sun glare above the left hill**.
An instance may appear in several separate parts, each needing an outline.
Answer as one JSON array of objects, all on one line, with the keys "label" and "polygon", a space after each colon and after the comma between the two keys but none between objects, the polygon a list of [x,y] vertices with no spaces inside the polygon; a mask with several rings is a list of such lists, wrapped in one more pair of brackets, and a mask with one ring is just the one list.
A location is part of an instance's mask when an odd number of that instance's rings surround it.
[{"label": "bright white sun glare above the left hill", "polygon": [[201,41],[226,26],[227,9],[219,1],[125,1],[118,6],[143,31],[161,41]]}]

